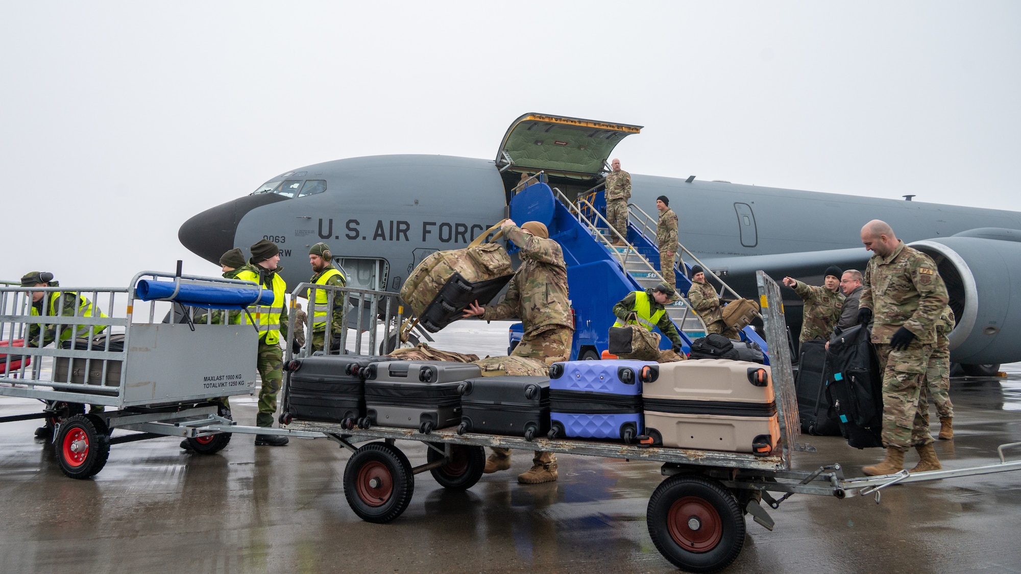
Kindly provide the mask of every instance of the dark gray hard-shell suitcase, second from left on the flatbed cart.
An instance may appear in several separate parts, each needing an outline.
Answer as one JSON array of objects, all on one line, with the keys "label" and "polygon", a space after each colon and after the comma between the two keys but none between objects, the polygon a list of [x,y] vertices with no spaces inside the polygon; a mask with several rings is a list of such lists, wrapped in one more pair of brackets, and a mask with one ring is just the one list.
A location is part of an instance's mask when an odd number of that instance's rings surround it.
[{"label": "dark gray hard-shell suitcase, second from left on the flatbed cart", "polygon": [[429,434],[460,422],[458,386],[482,376],[472,363],[394,361],[366,369],[370,425],[419,429]]}]

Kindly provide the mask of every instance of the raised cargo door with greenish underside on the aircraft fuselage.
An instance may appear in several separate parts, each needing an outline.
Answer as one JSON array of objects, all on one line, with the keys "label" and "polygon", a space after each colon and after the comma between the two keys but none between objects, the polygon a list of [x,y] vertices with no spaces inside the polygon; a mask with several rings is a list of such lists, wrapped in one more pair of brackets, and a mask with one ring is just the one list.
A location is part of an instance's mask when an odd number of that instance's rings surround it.
[{"label": "raised cargo door with greenish underside on the aircraft fuselage", "polygon": [[501,172],[598,177],[614,148],[641,126],[526,113],[510,124],[496,155]]}]

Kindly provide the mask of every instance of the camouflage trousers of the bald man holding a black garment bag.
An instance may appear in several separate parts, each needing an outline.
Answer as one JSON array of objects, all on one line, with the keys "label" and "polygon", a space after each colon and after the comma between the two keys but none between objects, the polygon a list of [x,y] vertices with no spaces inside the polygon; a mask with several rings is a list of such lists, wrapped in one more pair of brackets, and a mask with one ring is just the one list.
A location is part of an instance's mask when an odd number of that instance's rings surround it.
[{"label": "camouflage trousers of the bald man holding a black garment bag", "polygon": [[876,353],[883,373],[883,446],[907,450],[931,443],[925,370],[932,345],[916,340],[893,350],[889,344],[877,344]]}]

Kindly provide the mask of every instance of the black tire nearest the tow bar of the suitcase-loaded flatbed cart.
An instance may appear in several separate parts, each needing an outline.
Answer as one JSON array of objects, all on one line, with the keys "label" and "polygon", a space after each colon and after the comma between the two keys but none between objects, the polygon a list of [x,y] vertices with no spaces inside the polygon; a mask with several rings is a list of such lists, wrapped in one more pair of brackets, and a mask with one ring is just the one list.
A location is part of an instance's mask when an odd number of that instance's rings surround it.
[{"label": "black tire nearest the tow bar of the suitcase-loaded flatbed cart", "polygon": [[[668,521],[671,507],[683,497],[701,499],[715,510],[722,534],[707,552],[692,552],[671,534]],[[664,558],[688,572],[717,572],[734,562],[744,545],[744,516],[734,495],[722,484],[695,475],[674,475],[664,480],[648,500],[645,513],[648,535]]]}]

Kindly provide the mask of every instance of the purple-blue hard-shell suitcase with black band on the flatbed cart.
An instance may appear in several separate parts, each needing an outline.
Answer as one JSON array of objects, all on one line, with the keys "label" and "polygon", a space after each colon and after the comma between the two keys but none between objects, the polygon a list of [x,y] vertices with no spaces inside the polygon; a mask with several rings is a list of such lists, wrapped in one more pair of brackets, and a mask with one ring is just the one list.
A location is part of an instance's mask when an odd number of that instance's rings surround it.
[{"label": "purple-blue hard-shell suitcase with black band on the flatbed cart", "polygon": [[645,361],[569,361],[549,368],[549,438],[631,442],[644,432]]}]

